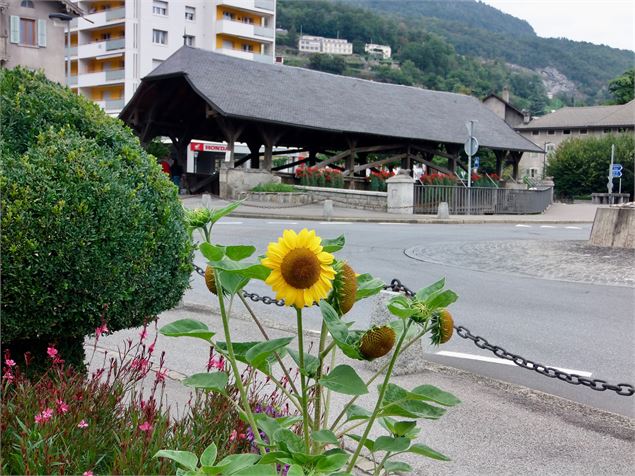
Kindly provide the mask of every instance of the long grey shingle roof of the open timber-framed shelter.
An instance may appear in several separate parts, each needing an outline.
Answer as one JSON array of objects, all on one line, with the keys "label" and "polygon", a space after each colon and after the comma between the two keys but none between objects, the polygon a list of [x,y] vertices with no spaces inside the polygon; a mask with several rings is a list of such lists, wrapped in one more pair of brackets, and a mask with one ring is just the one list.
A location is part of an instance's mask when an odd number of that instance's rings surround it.
[{"label": "long grey shingle roof of the open timber-framed shelter", "polygon": [[[222,114],[294,126],[461,144],[465,122],[494,149],[540,151],[471,96],[233,58],[184,46],[144,78],[184,74]],[[132,102],[132,101],[131,101]]]}]

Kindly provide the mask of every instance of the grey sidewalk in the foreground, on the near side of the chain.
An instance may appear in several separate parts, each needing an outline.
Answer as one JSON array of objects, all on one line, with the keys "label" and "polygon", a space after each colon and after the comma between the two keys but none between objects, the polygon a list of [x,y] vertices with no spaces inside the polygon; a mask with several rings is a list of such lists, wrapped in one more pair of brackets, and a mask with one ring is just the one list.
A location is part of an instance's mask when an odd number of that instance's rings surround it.
[{"label": "grey sidewalk in the foreground, on the near side of the chain", "polygon": [[[293,322],[289,309],[280,312],[289,313],[289,322]],[[163,313],[159,327],[183,318],[202,320],[212,330],[221,331],[217,315],[199,314],[192,309]],[[233,318],[231,328],[236,341],[260,339],[251,321]],[[267,332],[277,338],[291,335],[293,329],[276,326],[268,328]],[[125,339],[138,339],[138,334],[139,329],[129,329],[102,336],[98,348],[114,351]],[[317,337],[317,333],[307,333],[305,346],[313,343],[315,348]],[[219,340],[223,339],[219,337]],[[92,351],[92,342],[87,345],[89,352]],[[179,380],[205,370],[208,346],[197,339],[159,336],[156,349],[155,355],[166,351],[166,366],[172,370],[167,388],[168,401],[173,406],[181,406],[189,398],[190,389],[182,386]],[[364,379],[372,375],[364,363],[342,356],[338,361],[353,365]],[[446,454],[452,461],[418,456],[400,458],[413,466],[412,474],[632,474],[635,464],[633,420],[449,367],[426,364],[425,369],[414,375],[395,377],[393,382],[405,388],[424,383],[435,385],[452,392],[462,403],[449,408],[438,421],[419,420],[422,432],[418,442]],[[375,386],[370,390],[371,395],[358,402],[366,408],[370,408],[376,395]],[[348,400],[342,395],[333,395],[336,409]],[[380,434],[380,429],[378,426],[375,436]],[[364,473],[358,471],[357,474]]]}]

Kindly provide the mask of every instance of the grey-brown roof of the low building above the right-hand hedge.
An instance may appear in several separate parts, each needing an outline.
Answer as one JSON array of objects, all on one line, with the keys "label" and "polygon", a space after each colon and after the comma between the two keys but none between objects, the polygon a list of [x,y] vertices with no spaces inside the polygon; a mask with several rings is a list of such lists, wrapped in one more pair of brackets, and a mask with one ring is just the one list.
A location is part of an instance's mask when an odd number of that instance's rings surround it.
[{"label": "grey-brown roof of the low building above the right-hand hedge", "polygon": [[619,106],[563,107],[517,129],[634,127],[635,100]]}]

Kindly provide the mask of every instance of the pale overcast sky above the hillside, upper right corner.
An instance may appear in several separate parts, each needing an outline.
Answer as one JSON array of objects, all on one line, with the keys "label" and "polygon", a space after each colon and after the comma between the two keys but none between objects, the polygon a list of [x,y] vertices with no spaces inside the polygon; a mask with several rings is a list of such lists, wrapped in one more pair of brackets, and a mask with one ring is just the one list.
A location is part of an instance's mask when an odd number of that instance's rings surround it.
[{"label": "pale overcast sky above the hillside, upper right corner", "polygon": [[481,0],[527,20],[538,36],[635,50],[633,0]]}]

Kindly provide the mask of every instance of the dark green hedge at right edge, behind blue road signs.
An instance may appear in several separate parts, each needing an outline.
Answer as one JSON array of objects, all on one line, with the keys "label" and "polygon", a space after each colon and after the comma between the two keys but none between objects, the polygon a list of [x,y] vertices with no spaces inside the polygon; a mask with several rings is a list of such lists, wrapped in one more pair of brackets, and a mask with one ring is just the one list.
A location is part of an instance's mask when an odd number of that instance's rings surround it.
[{"label": "dark green hedge at right edge, behind blue road signs", "polygon": [[[611,144],[615,144],[615,163],[624,166],[622,192],[632,194],[635,159],[632,133],[569,139],[560,144],[547,165],[547,175],[553,176],[556,193],[561,197],[606,193]],[[618,179],[613,179],[613,192],[617,191]]]}]

